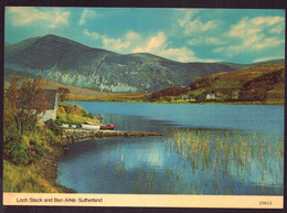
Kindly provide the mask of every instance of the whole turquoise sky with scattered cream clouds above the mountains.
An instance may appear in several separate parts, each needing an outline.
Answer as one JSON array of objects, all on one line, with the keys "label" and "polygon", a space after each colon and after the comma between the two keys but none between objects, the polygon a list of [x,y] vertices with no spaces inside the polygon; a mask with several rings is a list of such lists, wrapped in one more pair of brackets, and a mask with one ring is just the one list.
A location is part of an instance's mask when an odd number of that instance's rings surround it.
[{"label": "whole turquoise sky with scattered cream clouds above the mountains", "polygon": [[120,54],[249,64],[285,58],[285,11],[7,7],[4,40],[55,34]]}]

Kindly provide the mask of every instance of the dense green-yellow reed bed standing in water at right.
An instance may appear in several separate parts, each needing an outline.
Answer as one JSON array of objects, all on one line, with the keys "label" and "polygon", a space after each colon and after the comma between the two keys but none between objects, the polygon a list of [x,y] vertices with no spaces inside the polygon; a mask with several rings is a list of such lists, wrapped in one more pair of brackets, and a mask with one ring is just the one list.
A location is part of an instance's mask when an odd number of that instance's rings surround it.
[{"label": "dense green-yellow reed bed standing in water at right", "polygon": [[[166,134],[172,137],[172,140],[167,140],[170,150],[177,151],[183,162],[189,161],[194,174],[212,174],[214,180],[235,177],[255,185],[280,185],[283,182],[284,142],[276,135],[190,129],[173,129]],[[184,172],[177,174],[176,179],[180,180],[182,175]],[[220,183],[213,182],[210,187],[215,194],[236,193],[234,185],[223,191]],[[191,191],[198,193],[199,189],[193,185]]]}]

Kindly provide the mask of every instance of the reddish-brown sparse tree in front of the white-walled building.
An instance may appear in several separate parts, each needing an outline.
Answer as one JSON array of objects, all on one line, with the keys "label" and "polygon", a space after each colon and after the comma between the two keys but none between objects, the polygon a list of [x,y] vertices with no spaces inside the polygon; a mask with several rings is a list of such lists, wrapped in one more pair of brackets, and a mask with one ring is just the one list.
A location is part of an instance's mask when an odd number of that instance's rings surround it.
[{"label": "reddish-brown sparse tree in front of the white-walled building", "polygon": [[21,85],[18,78],[10,81],[6,93],[9,103],[10,118],[14,121],[20,135],[28,129],[34,129],[41,115],[49,107],[43,78],[25,79]]}]

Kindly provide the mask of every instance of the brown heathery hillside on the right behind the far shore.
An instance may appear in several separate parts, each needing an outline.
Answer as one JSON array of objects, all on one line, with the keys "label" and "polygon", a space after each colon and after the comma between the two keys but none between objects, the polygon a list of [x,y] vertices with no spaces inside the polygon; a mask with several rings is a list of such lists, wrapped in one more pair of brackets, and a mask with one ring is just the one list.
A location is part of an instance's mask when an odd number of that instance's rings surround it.
[{"label": "brown heathery hillside on the right behind the far shore", "polygon": [[[210,96],[208,96],[210,94]],[[171,96],[171,97],[169,97]],[[262,65],[228,73],[217,73],[195,81],[184,88],[169,87],[149,95],[148,100],[263,102],[283,104],[285,66]],[[212,97],[211,97],[212,96]]]}]

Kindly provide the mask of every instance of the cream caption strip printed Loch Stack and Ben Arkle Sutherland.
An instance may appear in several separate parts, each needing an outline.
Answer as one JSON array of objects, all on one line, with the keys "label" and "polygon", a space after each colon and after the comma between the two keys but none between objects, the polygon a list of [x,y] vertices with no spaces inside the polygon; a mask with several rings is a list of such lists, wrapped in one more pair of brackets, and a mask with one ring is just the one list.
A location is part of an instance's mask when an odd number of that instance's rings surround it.
[{"label": "cream caption strip printed Loch Stack and Ben Arkle Sutherland", "polygon": [[3,193],[3,205],[283,209],[284,196]]}]

